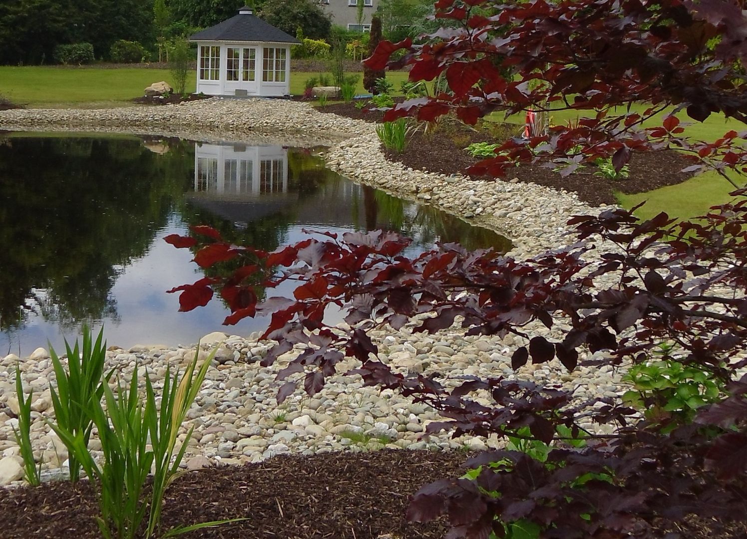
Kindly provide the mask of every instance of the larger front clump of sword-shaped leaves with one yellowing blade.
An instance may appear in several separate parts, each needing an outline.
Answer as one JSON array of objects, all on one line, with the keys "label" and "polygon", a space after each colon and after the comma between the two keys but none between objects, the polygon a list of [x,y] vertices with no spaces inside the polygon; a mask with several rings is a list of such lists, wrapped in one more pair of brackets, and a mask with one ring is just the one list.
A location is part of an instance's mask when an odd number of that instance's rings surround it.
[{"label": "larger front clump of sword-shaped leaves with one yellowing blade", "polygon": [[[116,393],[106,383],[106,378],[99,378],[97,381],[102,382],[106,407],[101,399],[92,399],[86,412],[87,419],[96,425],[101,440],[102,463],[93,458],[81,432],[65,429],[59,422],[52,424],[52,429],[65,443],[70,458],[74,456],[87,476],[96,482],[101,513],[97,520],[105,538],[147,539],[160,526],[164,494],[179,473],[179,464],[192,434],[190,429],[184,442],[177,447],[179,427],[205,379],[214,353],[215,350],[198,369],[198,350],[181,377],[177,372],[172,378],[167,371],[158,405],[147,374],[144,398],[138,394],[140,369],[137,365],[128,388],[117,377]],[[73,396],[75,398],[75,393]],[[151,470],[152,486],[146,490]],[[170,529],[163,536],[216,524]],[[143,526],[146,526],[146,532],[141,535]]]}]

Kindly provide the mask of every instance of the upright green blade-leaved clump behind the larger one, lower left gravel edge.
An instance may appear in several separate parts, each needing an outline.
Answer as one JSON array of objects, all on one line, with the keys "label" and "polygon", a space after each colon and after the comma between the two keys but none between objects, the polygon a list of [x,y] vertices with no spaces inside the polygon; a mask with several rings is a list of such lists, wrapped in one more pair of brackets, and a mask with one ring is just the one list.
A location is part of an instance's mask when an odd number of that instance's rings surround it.
[{"label": "upright green blade-leaved clump behind the larger one, lower left gravel edge", "polygon": [[[49,387],[57,420],[55,429],[68,433],[70,437],[79,440],[85,448],[93,429],[93,419],[89,412],[101,402],[104,387],[107,386],[112,374],[110,371],[103,376],[106,361],[106,342],[102,342],[103,337],[102,329],[94,343],[90,329],[84,326],[82,347],[79,347],[78,340],[75,340],[75,347],[71,349],[65,340],[67,370],[63,368],[55,349],[49,349],[57,380],[56,390],[53,386]],[[72,482],[80,479],[81,465],[79,455],[70,451],[69,470]]]}]

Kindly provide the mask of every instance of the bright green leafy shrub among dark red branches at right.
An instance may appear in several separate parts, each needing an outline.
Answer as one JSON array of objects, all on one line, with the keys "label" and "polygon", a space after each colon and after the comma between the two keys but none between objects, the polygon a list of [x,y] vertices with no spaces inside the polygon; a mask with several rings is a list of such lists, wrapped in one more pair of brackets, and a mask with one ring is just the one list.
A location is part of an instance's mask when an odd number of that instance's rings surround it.
[{"label": "bright green leafy shrub among dark red branches at right", "polygon": [[692,423],[698,408],[718,402],[725,394],[719,378],[697,364],[683,364],[670,355],[672,347],[660,345],[660,358],[635,364],[623,377],[633,384],[622,399],[669,432]]}]

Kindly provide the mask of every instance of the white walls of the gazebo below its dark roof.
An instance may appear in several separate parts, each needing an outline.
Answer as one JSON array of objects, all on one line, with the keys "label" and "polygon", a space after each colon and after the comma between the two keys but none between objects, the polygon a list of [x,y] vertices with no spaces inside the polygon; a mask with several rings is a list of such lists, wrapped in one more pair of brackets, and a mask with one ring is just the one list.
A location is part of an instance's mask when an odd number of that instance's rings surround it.
[{"label": "white walls of the gazebo below its dark roof", "polygon": [[[219,42],[198,41],[197,43],[197,90],[196,93],[205,93],[208,96],[256,96],[256,97],[279,97],[291,93],[291,46],[285,43],[261,43],[261,42]],[[200,78],[200,52],[203,46],[220,47],[220,69],[217,81],[203,80]],[[264,65],[264,48],[285,49],[285,81],[263,81],[262,67]],[[228,49],[256,49],[255,55],[255,80],[229,81],[228,71]],[[244,68],[243,62],[239,62],[240,69]],[[237,90],[239,92],[237,93]],[[246,92],[244,94],[244,91]]]}]

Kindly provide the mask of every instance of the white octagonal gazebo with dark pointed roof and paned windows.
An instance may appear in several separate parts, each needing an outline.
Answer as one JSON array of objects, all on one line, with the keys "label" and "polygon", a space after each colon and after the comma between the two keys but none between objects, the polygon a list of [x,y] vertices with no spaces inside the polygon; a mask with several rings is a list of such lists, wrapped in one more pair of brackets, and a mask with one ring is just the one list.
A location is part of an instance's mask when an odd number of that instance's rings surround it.
[{"label": "white octagonal gazebo with dark pointed roof and paned windows", "polygon": [[197,93],[278,97],[291,93],[295,37],[252,15],[238,15],[190,37],[197,43]]}]

